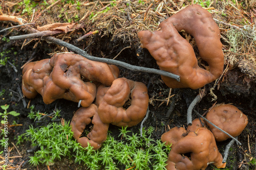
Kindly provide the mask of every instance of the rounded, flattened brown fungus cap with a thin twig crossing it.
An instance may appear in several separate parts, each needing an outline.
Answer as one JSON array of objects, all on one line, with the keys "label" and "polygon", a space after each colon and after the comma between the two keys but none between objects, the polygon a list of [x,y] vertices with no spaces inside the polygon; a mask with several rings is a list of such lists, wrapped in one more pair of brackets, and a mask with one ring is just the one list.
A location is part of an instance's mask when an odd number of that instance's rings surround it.
[{"label": "rounded, flattened brown fungus cap with a thin twig crossing it", "polygon": [[[206,114],[206,118],[233,137],[240,135],[248,124],[247,116],[236,106],[228,104],[215,106]],[[207,125],[217,141],[230,138],[209,123]]]}]

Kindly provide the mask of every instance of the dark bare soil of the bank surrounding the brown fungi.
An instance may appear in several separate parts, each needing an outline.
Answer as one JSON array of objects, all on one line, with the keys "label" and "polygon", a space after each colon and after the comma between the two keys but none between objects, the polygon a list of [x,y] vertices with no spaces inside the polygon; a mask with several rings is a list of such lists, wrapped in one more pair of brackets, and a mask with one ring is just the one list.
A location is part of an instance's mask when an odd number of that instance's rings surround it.
[{"label": "dark bare soil of the bank surrounding the brown fungi", "polygon": [[[0,23],[1,30],[9,27],[7,22]],[[76,34],[73,33],[71,36],[70,43],[75,44],[74,40],[81,35],[82,31],[76,31]],[[8,35],[7,35],[8,34]],[[77,103],[57,100],[52,104],[46,105],[42,101],[40,95],[37,95],[35,99],[29,100],[24,98],[21,92],[22,85],[22,66],[30,59],[33,61],[50,58],[54,53],[55,49],[59,50],[59,47],[56,47],[54,44],[49,44],[46,41],[40,41],[38,45],[33,48],[36,41],[28,45],[23,46],[23,40],[16,41],[4,41],[3,37],[14,36],[14,35],[23,35],[26,32],[21,30],[13,30],[13,32],[2,32],[0,37],[1,49],[0,53],[4,57],[8,57],[8,61],[15,65],[17,72],[14,68],[7,63],[5,66],[0,65],[0,106],[10,105],[8,111],[19,112],[18,117],[9,116],[8,122],[12,124],[13,121],[16,124],[22,124],[23,126],[14,126],[9,128],[9,148],[10,156],[17,156],[18,153],[16,149],[13,148],[13,142],[16,143],[18,135],[23,134],[30,125],[34,127],[45,126],[49,122],[42,122],[40,124],[34,123],[30,120],[27,115],[30,112],[30,109],[27,108],[28,104],[34,105],[36,111],[42,113],[47,112],[51,113],[52,110],[58,108],[61,110],[61,117],[66,120],[71,120],[73,113],[77,110]],[[121,35],[121,33],[120,33]],[[107,42],[107,43],[106,43]],[[90,44],[90,45],[89,45]],[[89,45],[89,46],[88,46]],[[115,37],[112,39],[112,36],[103,36],[102,35],[93,35],[87,39],[79,42],[77,46],[84,48],[88,46],[87,52],[90,55],[96,57],[108,57],[114,58],[124,47],[131,45],[130,42],[123,41],[123,38]],[[5,53],[10,51],[8,54]],[[99,53],[100,52],[100,53]],[[158,68],[155,60],[151,55],[144,49],[139,47],[139,40],[135,39],[133,41],[133,46],[131,48],[126,48],[121,55],[117,57],[116,60],[124,61],[133,65]],[[226,67],[227,65],[225,65]],[[186,128],[186,113],[187,108],[191,101],[194,100],[196,95],[199,93],[199,90],[191,90],[188,88],[184,89],[172,89],[172,94],[175,94],[170,98],[168,106],[166,100],[169,94],[169,88],[162,82],[159,75],[147,74],[145,72],[131,71],[122,67],[120,68],[120,77],[125,77],[134,81],[143,82],[148,87],[148,94],[150,96],[150,116],[144,123],[145,127],[153,126],[156,128],[153,136],[155,139],[160,139],[161,135],[168,131],[168,126],[170,128],[176,126],[184,126]],[[256,148],[255,148],[255,134],[256,134],[256,81],[253,78],[249,78],[245,73],[243,73],[238,67],[229,69],[222,80],[220,80],[218,86],[213,91],[217,96],[217,100],[213,101],[213,96],[210,95],[210,88],[214,86],[214,82],[207,84],[204,88],[206,89],[206,95],[196,106],[196,110],[199,113],[203,114],[207,109],[209,109],[216,102],[218,104],[233,104],[238,107],[244,114],[248,116],[249,123],[246,129],[238,137],[239,141],[242,143],[241,146],[236,144],[233,145],[233,150],[229,153],[227,159],[226,167],[228,169],[255,169],[256,167],[249,164],[251,157],[255,158]],[[173,107],[172,112],[168,112],[169,107]],[[197,118],[194,114],[193,118]],[[135,133],[139,133],[140,125],[129,128]],[[118,127],[111,126],[110,130],[113,136],[118,136],[119,131]],[[224,142],[218,142],[218,148],[223,154],[226,145],[230,140]],[[11,159],[11,165],[15,166],[22,163],[20,169],[37,169],[29,165],[28,160],[29,156],[33,156],[33,153],[27,153],[27,150],[31,149],[30,142],[25,142],[20,145],[17,145],[17,149],[22,155],[21,158]],[[74,163],[74,160],[69,160],[63,158],[61,161],[56,162],[53,166],[50,166],[51,169],[85,169],[82,165]],[[39,169],[47,169],[46,165],[38,166]],[[214,166],[208,166],[207,169],[213,169]],[[15,169],[15,168],[13,168]]]}]

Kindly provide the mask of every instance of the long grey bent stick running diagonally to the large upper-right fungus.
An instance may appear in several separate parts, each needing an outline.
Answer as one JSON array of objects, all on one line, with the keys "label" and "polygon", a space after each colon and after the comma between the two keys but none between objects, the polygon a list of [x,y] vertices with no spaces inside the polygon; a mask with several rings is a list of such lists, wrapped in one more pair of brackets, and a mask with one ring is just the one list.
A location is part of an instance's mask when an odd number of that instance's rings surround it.
[{"label": "long grey bent stick running diagonally to the large upper-right fungus", "polygon": [[169,78],[173,78],[173,79],[176,79],[177,81],[180,81],[180,76],[172,74],[172,73],[167,72],[167,71],[154,69],[154,68],[146,68],[146,67],[135,66],[135,65],[127,64],[125,62],[112,60],[112,59],[107,59],[107,58],[94,57],[94,56],[91,56],[91,55],[87,54],[86,52],[84,52],[83,50],[81,50],[80,48],[78,48],[75,45],[72,45],[70,43],[67,43],[65,41],[62,41],[60,39],[57,39],[57,38],[54,38],[54,37],[51,37],[51,36],[41,37],[41,39],[52,42],[52,43],[55,43],[55,44],[58,44],[58,45],[61,45],[61,46],[65,46],[65,47],[69,48],[70,50],[72,50],[73,52],[76,52],[77,54],[79,54],[79,55],[81,55],[81,56],[83,56],[83,57],[85,57],[89,60],[92,60],[92,61],[99,61],[99,62],[104,62],[104,63],[109,63],[109,64],[115,64],[115,65],[119,65],[119,66],[122,66],[122,67],[130,69],[130,70],[154,73],[154,74],[167,76]]}]

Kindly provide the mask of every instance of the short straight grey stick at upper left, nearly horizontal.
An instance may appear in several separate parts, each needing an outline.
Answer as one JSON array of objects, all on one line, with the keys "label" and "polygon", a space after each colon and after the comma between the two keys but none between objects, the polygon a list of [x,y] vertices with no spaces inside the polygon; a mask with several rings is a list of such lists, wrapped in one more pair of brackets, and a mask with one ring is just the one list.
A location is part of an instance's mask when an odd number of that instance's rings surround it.
[{"label": "short straight grey stick at upper left, nearly horizontal", "polygon": [[38,38],[43,36],[54,35],[58,33],[63,33],[62,30],[48,30],[48,31],[40,31],[36,33],[26,34],[26,35],[18,35],[9,37],[10,40],[18,40],[18,39],[27,39],[27,38]]}]

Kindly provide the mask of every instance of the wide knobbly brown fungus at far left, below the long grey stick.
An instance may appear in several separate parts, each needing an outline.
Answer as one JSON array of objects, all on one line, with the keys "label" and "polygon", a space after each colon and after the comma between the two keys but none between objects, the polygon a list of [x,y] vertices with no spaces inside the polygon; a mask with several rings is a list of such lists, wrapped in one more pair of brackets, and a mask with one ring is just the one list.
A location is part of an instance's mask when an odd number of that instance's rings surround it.
[{"label": "wide knobbly brown fungus at far left, below the long grey stick", "polygon": [[51,59],[32,62],[23,70],[23,93],[32,99],[37,93],[46,104],[56,99],[90,106],[96,95],[95,83],[110,86],[119,77],[115,65],[88,60],[80,55],[56,54]]}]

